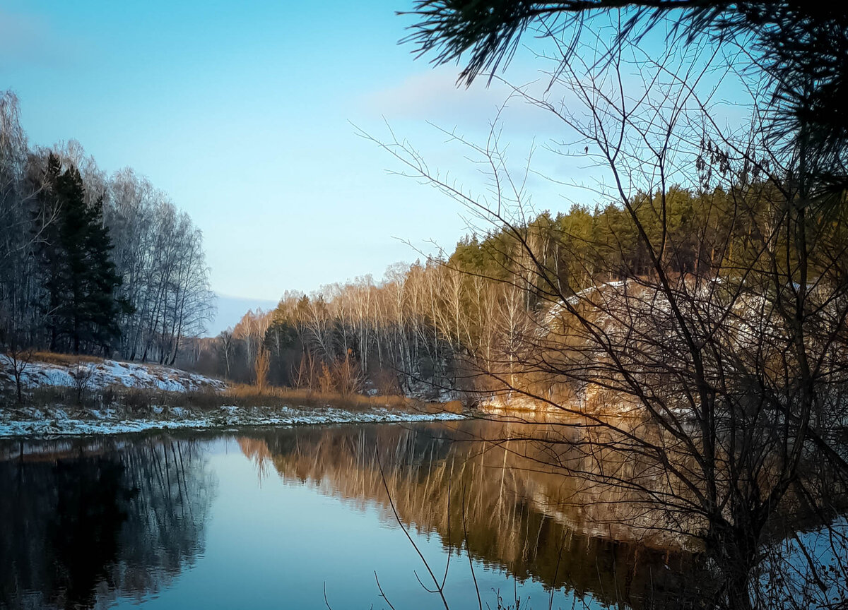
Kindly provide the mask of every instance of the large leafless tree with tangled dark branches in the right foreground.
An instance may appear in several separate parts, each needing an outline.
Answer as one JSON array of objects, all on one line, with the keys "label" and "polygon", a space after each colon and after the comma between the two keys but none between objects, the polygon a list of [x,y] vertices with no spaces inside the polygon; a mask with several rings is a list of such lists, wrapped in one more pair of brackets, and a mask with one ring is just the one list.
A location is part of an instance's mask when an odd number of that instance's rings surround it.
[{"label": "large leafless tree with tangled dark branches in the right foreground", "polygon": [[[499,188],[490,199],[441,180],[404,142],[379,143],[408,175],[510,238],[499,252],[510,274],[490,279],[527,295],[533,324],[500,355],[477,352],[468,362],[502,391],[561,413],[561,434],[538,438],[550,463],[627,491],[639,498],[628,507],[650,513],[652,528],[698,541],[720,583],[704,592],[711,603],[771,606],[767,591],[784,585],[763,557],[783,540],[773,537],[777,524],[797,529],[812,513],[827,527],[823,516],[845,498],[845,197],[806,158],[803,133],[780,149],[767,139],[768,87],[746,81],[755,85],[750,125],[723,128],[712,92],[700,97],[712,71],[732,74],[715,48],[656,58],[611,47],[610,38],[557,63],[539,95],[516,89],[561,120],[566,143],[553,144],[556,152],[596,163],[594,194],[622,220],[613,236],[633,236],[632,246],[589,245],[593,286],[563,285],[543,256],[494,126],[485,146],[453,136],[491,168],[489,184]],[[693,224],[695,235],[672,226],[679,185],[722,215],[723,232],[706,230],[709,222]],[[693,248],[703,253],[697,267]],[[557,383],[568,392],[543,390]],[[779,573],[797,585],[789,567],[784,557]],[[830,607],[845,585],[836,579],[836,591],[803,603]]]}]

